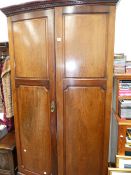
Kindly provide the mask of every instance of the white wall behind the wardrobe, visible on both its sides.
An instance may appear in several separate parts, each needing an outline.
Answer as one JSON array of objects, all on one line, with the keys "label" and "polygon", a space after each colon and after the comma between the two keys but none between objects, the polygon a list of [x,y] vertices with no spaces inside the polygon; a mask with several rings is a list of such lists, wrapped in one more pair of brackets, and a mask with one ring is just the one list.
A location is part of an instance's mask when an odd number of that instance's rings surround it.
[{"label": "white wall behind the wardrobe, visible on both its sides", "polygon": [[[0,0],[0,8],[32,0]],[[131,60],[131,0],[121,0],[116,10],[115,53],[125,53]],[[0,12],[0,42],[8,40],[7,19]]]}]

